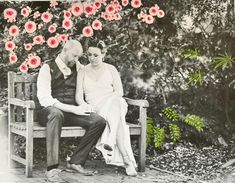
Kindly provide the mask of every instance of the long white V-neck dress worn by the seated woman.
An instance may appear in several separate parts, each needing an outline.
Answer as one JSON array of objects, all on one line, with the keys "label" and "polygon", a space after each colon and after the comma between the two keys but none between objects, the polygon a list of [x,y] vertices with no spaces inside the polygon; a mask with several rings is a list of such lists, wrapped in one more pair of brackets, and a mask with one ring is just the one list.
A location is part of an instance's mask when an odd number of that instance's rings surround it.
[{"label": "long white V-neck dress worn by the seated woman", "polygon": [[[96,112],[107,120],[108,115],[115,111],[110,111],[110,106],[114,100],[118,100],[120,102],[121,109],[120,109],[120,120],[119,122],[123,125],[123,138],[124,138],[124,147],[125,151],[128,155],[128,158],[133,163],[134,167],[137,167],[134,155],[131,148],[130,143],[130,132],[129,127],[126,124],[125,115],[127,113],[127,103],[125,99],[120,96],[114,94],[113,89],[113,76],[111,71],[108,68],[108,64],[105,64],[105,71],[99,80],[94,81],[86,74],[86,68],[84,72],[84,80],[83,80],[83,89],[85,94],[85,100],[88,104],[91,104]],[[112,114],[111,114],[112,115]],[[109,123],[110,121],[108,121]],[[116,144],[110,144],[109,141],[109,134],[116,129],[111,129],[112,125],[106,125],[106,128],[101,135],[101,138],[98,140],[96,144],[96,148],[99,149],[107,164],[113,164],[117,166],[124,166],[124,161],[121,155],[120,150],[116,146]],[[112,156],[107,155],[108,151],[103,148],[104,144],[110,144],[114,149],[112,151]]]}]

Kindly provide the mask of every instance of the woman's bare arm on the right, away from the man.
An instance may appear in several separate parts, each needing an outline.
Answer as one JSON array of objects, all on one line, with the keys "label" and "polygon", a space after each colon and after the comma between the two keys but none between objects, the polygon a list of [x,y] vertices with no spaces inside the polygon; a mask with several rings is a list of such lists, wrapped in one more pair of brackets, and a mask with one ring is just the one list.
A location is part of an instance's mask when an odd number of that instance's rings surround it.
[{"label": "woman's bare arm on the right, away from the man", "polygon": [[123,86],[122,86],[122,81],[121,81],[121,77],[119,75],[119,72],[117,71],[116,67],[114,67],[113,65],[110,65],[110,71],[113,76],[114,94],[122,97],[123,96]]}]

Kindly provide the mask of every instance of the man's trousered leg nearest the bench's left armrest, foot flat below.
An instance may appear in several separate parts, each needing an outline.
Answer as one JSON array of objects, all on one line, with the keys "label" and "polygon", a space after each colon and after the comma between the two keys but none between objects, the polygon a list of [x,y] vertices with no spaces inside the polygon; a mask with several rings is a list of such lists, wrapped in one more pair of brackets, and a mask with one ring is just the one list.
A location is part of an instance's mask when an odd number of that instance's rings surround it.
[{"label": "man's trousered leg nearest the bench's left armrest, foot flat below", "polygon": [[47,171],[50,171],[59,166],[59,144],[64,114],[56,107],[47,107],[42,109],[39,121],[42,126],[47,127]]}]

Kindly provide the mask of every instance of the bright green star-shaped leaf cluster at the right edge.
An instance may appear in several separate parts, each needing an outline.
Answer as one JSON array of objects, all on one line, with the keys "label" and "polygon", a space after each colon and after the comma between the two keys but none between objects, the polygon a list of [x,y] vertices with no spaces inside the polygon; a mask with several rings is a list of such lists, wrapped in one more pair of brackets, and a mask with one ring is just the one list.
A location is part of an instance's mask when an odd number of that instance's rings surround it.
[{"label": "bright green star-shaped leaf cluster at the right edge", "polygon": [[220,54],[218,57],[214,58],[214,69],[222,69],[225,70],[227,68],[231,68],[234,63],[234,58],[229,56],[227,53],[225,55]]}]

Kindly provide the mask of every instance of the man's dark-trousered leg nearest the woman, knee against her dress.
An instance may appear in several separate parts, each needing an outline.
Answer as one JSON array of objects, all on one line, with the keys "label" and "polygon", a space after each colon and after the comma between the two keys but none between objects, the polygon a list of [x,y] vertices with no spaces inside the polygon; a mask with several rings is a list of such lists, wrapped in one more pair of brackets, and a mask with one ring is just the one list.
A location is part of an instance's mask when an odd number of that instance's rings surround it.
[{"label": "man's dark-trousered leg nearest the woman, knee against her dress", "polygon": [[91,148],[97,143],[104,131],[106,121],[96,113],[90,116],[78,116],[71,113],[64,113],[66,126],[81,126],[86,129],[77,149],[71,157],[70,163],[84,165]]}]

